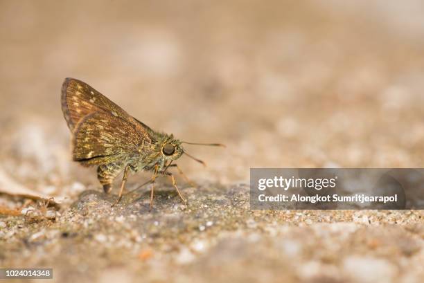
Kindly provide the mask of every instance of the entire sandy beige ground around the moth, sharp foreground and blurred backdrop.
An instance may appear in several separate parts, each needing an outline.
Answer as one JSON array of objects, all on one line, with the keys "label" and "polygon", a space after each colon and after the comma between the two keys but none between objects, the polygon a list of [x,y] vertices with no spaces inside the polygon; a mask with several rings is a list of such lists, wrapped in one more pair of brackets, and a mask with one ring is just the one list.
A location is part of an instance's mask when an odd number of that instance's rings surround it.
[{"label": "entire sandy beige ground around the moth, sharp foreground and blurred backdrop", "polygon": [[[421,210],[249,210],[247,184],[250,167],[423,167],[423,12],[0,1],[1,266],[53,268],[53,282],[422,282]],[[116,188],[71,162],[64,77],[153,129],[227,145],[186,147],[208,164],[179,162],[188,205],[162,179],[152,211],[148,187],[111,208]]]}]

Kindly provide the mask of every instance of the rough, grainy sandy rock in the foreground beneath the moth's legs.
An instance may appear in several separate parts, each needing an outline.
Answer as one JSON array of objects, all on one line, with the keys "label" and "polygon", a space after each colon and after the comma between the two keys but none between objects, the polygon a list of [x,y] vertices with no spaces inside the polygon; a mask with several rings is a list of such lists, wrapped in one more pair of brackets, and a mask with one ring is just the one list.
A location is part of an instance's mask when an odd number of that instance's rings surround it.
[{"label": "rough, grainy sandy rock in the foreground beneath the moth's legs", "polygon": [[[1,219],[2,266],[56,282],[419,282],[421,211],[249,210],[246,185],[116,196],[87,190],[55,221]],[[50,209],[50,208],[49,208]]]}]

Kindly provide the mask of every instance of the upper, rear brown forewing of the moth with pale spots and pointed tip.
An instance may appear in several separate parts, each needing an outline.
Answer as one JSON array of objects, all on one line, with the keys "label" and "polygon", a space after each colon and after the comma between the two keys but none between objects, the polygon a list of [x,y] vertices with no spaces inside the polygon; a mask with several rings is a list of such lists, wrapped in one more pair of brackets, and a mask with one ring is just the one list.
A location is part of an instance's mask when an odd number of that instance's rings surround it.
[{"label": "upper, rear brown forewing of the moth with pale spots and pointed tip", "polygon": [[104,111],[132,122],[132,118],[112,100],[80,80],[67,77],[62,84],[62,112],[73,131],[79,120],[93,112]]}]

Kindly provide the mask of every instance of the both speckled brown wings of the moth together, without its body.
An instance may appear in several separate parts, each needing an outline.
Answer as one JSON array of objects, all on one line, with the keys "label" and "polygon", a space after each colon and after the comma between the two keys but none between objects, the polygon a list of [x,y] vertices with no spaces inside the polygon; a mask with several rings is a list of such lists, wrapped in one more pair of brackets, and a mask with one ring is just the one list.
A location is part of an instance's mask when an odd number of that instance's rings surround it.
[{"label": "both speckled brown wings of the moth together, without its body", "polygon": [[82,165],[122,161],[151,143],[151,129],[85,82],[67,78],[62,111],[73,132],[73,160]]}]

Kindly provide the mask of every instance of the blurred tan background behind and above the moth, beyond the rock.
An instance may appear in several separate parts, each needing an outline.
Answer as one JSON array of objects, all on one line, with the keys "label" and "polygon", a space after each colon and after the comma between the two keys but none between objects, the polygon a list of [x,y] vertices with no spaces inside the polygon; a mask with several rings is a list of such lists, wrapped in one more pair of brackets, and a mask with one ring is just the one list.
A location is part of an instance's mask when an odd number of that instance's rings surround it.
[{"label": "blurred tan background behind and above the moth, beyond the rock", "polygon": [[225,143],[189,148],[209,164],[182,158],[195,180],[421,167],[423,12],[418,0],[0,1],[1,170],[35,186],[91,175],[69,162],[64,77],[153,129]]}]

